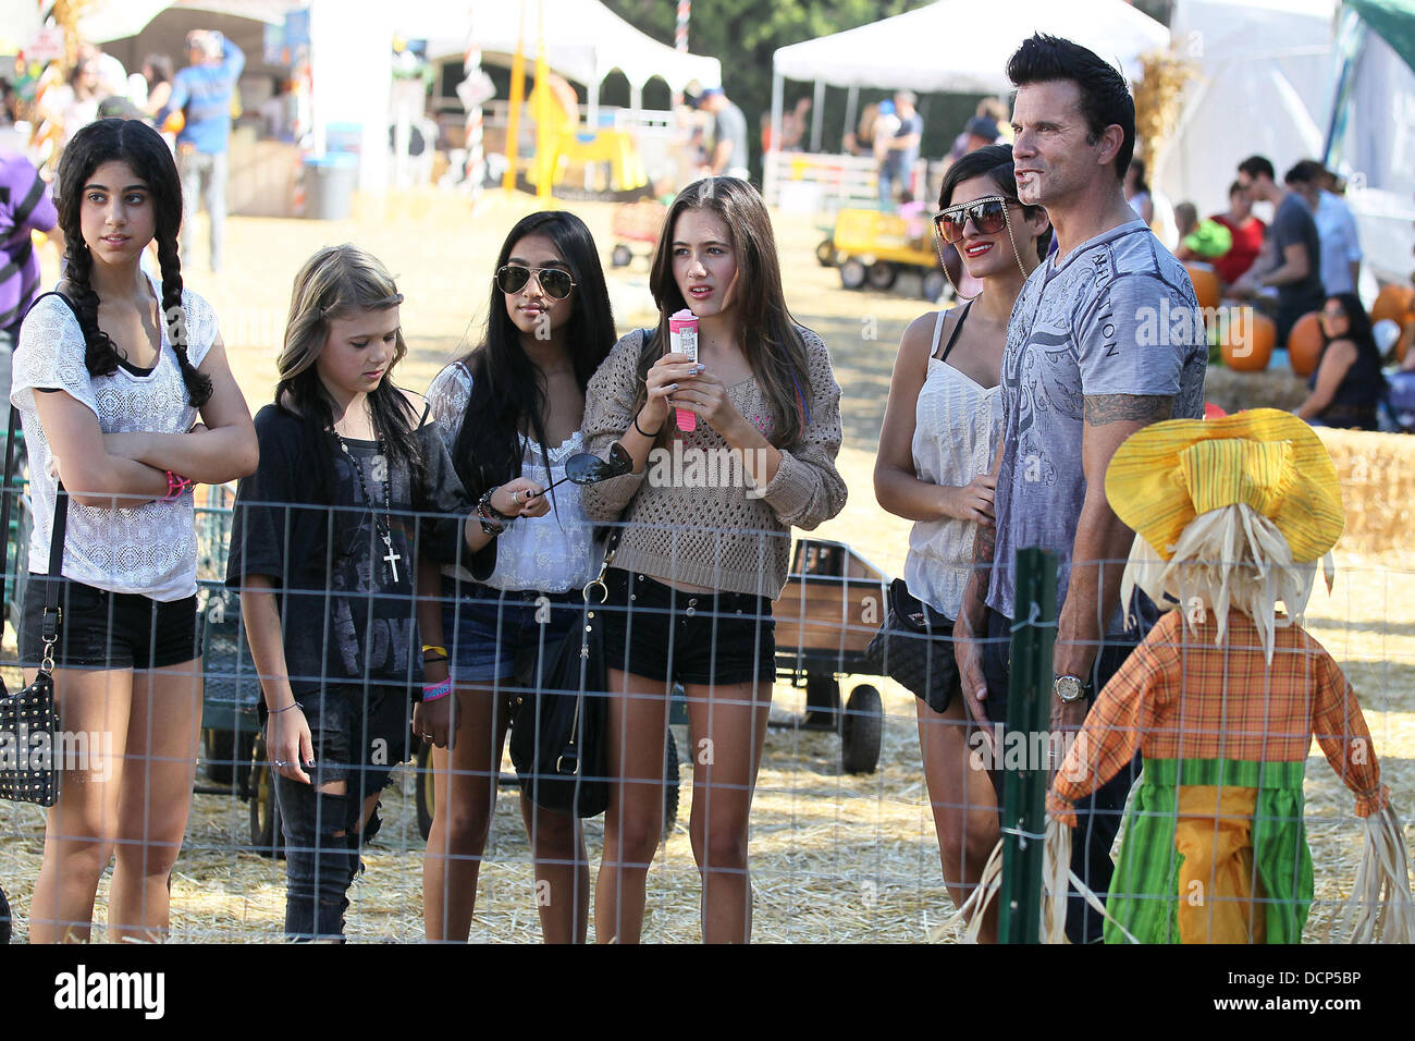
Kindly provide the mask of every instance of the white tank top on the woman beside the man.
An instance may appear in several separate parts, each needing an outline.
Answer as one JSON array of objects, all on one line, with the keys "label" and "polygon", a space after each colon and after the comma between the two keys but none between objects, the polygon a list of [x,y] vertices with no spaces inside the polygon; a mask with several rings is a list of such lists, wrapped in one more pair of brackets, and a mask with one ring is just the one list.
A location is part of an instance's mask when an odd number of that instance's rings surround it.
[{"label": "white tank top on the woman beside the man", "polygon": [[[1002,397],[998,387],[982,387],[935,357],[944,314],[940,312],[934,323],[928,374],[914,412],[914,473],[930,484],[962,487],[992,466],[1002,436]],[[964,319],[966,314],[959,317],[959,326]],[[976,533],[974,521],[951,517],[916,521],[908,533],[904,582],[914,596],[947,618],[958,618],[972,572]]]}]

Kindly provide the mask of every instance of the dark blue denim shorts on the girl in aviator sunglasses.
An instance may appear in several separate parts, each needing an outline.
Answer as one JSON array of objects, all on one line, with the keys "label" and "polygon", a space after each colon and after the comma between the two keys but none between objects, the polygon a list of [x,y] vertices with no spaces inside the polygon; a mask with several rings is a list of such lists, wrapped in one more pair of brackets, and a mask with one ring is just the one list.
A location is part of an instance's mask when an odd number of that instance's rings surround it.
[{"label": "dark blue denim shorts on the girl in aviator sunglasses", "polygon": [[555,654],[580,616],[579,589],[542,593],[492,589],[443,576],[443,640],[451,681],[531,686],[538,661]]}]

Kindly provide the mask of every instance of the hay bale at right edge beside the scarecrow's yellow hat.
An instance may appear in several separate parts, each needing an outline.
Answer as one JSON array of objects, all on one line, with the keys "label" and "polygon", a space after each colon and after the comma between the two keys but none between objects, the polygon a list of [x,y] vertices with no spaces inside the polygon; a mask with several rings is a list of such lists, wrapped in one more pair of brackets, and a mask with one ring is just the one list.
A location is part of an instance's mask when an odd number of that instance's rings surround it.
[{"label": "hay bale at right edge beside the scarecrow's yellow hat", "polygon": [[1388,552],[1405,545],[1415,523],[1415,438],[1316,428],[1336,463],[1346,507],[1337,550]]}]

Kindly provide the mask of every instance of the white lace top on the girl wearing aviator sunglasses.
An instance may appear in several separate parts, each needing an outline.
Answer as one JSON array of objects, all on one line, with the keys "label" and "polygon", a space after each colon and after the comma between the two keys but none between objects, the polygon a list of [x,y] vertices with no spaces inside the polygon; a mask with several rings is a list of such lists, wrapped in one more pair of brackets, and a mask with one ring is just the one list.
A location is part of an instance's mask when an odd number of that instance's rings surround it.
[{"label": "white lace top on the girl wearing aviator sunglasses", "polygon": [[[471,372],[454,361],[433,378],[427,404],[437,422],[449,453],[456,450],[461,418],[471,397]],[[541,445],[521,435],[521,476],[549,487],[565,476],[565,460],[584,450],[584,438],[576,431],[549,450],[546,473]],[[553,504],[543,517],[522,517],[497,535],[497,567],[485,585],[494,589],[536,589],[546,593],[579,589],[600,571],[600,548],[594,542],[594,521],[584,513],[580,486],[565,482],[553,493]],[[466,568],[447,565],[443,574],[464,582],[475,579]]]}]

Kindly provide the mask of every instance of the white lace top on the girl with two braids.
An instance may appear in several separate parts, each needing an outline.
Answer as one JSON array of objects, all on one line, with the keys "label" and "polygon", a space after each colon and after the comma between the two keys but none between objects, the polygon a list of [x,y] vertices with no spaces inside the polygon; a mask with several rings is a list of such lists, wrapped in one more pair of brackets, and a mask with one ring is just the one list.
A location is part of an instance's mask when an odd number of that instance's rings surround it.
[{"label": "white lace top on the girl with two braids", "polygon": [[[151,275],[149,280],[160,310],[161,285]],[[183,306],[187,357],[192,365],[200,365],[216,339],[216,316],[211,305],[190,289],[183,290]],[[163,347],[150,372],[139,375],[119,365],[110,375],[91,377],[83,364],[83,333],[64,300],[48,296],[25,317],[14,353],[10,401],[20,409],[30,456],[31,572],[42,575],[50,568],[57,487],[50,476],[52,453],[35,409],[35,389],[65,391],[88,405],[105,433],[190,431],[197,422],[197,409],[187,402],[167,323],[161,326]],[[120,510],[83,506],[71,499],[64,575],[98,589],[142,593],[161,602],[195,595],[197,533],[191,491],[173,503],[154,501]]]}]

